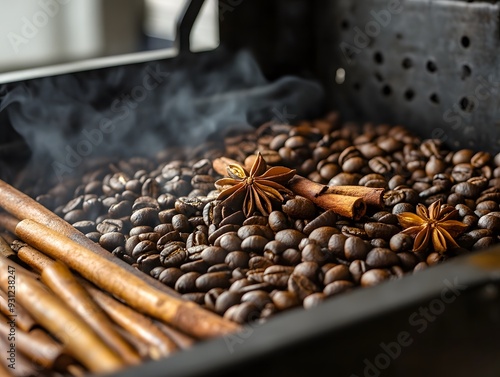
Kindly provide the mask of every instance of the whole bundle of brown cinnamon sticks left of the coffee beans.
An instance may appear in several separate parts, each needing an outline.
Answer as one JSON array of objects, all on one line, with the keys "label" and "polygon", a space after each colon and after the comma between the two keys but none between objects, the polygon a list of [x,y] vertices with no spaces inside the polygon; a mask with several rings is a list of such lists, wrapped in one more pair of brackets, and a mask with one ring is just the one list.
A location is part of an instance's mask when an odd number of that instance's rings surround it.
[{"label": "whole bundle of brown cinnamon sticks left of the coffee beans", "polygon": [[2,358],[0,375],[111,372],[239,330],[3,181],[0,207],[0,339],[10,334],[16,367]]}]

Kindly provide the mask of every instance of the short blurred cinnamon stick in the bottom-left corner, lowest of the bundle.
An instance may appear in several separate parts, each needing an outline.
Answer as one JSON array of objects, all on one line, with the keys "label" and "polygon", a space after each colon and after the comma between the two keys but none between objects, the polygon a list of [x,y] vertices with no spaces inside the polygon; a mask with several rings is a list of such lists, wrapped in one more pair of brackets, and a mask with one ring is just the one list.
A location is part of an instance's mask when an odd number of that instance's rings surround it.
[{"label": "short blurred cinnamon stick in the bottom-left corner, lowest of the bundle", "polygon": [[[8,319],[0,315],[0,335],[8,339],[9,332]],[[28,333],[16,328],[12,341],[16,345],[16,352],[22,352],[30,360],[44,368],[53,368],[56,365],[63,366],[72,360],[64,354],[62,345],[53,340],[42,329],[34,329]]]}]

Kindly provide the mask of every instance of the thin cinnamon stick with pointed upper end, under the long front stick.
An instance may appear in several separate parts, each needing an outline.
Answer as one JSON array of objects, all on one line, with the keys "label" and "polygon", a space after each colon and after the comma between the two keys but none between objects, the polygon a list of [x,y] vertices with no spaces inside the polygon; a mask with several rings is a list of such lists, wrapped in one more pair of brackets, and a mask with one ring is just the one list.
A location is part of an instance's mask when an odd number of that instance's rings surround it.
[{"label": "thin cinnamon stick with pointed upper end, under the long front stick", "polygon": [[127,330],[128,333],[149,345],[148,353],[151,358],[159,359],[177,350],[177,345],[162,333],[150,319],[90,284],[86,285],[86,289],[113,321]]}]

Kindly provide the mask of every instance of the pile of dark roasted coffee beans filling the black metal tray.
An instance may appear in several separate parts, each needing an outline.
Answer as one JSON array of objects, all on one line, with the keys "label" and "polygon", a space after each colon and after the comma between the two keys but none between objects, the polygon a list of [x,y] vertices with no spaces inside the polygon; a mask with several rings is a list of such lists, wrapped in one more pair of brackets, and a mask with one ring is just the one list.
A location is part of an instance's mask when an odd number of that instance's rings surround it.
[{"label": "pile of dark roasted coffee beans filling the black metal tray", "polygon": [[[260,151],[269,165],[329,185],[385,189],[359,221],[286,197],[269,216],[221,206],[212,166]],[[451,151],[407,129],[339,121],[264,124],[224,144],[169,148],[156,159],[87,161],[80,178],[38,195],[116,257],[221,316],[265,320],[355,287],[396,279],[499,242],[500,153]],[[459,249],[412,251],[397,214],[441,199],[468,225]]]}]

